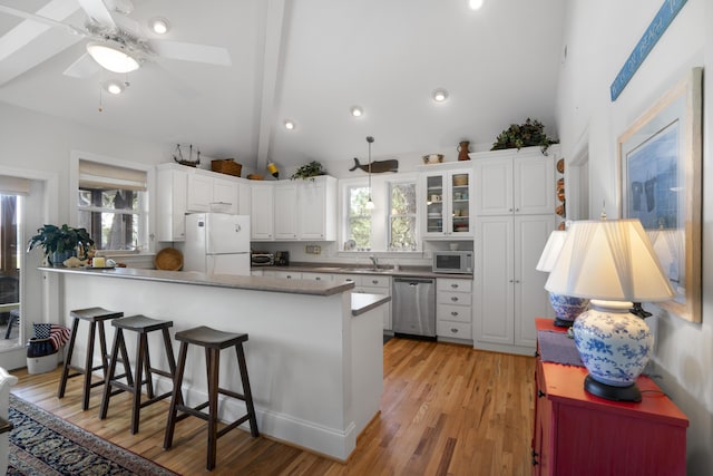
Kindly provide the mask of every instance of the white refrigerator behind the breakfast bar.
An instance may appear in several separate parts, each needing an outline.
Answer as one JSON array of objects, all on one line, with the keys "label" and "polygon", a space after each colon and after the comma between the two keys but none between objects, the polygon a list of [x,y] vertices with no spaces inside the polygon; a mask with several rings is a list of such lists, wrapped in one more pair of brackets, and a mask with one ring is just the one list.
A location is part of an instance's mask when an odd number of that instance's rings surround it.
[{"label": "white refrigerator behind the breakfast bar", "polygon": [[250,216],[193,213],[186,216],[184,271],[250,275]]}]

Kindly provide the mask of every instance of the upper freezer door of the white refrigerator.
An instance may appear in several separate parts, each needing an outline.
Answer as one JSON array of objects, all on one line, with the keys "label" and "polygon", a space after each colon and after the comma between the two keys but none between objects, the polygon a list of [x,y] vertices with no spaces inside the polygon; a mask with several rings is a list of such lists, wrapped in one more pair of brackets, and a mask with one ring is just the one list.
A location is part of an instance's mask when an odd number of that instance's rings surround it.
[{"label": "upper freezer door of the white refrigerator", "polygon": [[206,253],[232,254],[250,252],[250,217],[206,213]]}]

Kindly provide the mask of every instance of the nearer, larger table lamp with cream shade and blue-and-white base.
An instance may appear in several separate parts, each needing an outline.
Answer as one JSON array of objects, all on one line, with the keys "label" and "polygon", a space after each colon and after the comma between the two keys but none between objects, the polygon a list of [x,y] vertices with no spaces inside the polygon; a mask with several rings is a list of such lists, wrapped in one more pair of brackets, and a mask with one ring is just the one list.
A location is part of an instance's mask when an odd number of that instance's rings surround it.
[{"label": "nearer, larger table lamp with cream shade and blue-and-white base", "polygon": [[633,302],[674,297],[638,220],[574,222],[545,289],[588,298],[573,326],[575,346],[589,375],[584,388],[609,400],[641,401],[636,379],[654,337]]}]

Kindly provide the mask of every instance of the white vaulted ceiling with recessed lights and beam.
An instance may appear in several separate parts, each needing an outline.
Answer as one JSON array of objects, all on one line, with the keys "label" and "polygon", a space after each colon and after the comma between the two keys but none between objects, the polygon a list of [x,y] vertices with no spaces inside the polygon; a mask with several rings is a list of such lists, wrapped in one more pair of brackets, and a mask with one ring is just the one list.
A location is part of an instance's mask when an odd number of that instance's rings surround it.
[{"label": "white vaulted ceiling with recessed lights and beam", "polygon": [[[144,38],[163,17],[160,38],[224,47],[231,66],[156,57],[80,78],[64,71],[86,38],[2,11],[81,29],[92,1],[0,0],[0,101],[257,167],[363,156],[368,135],[374,157],[489,144],[527,117],[556,135],[564,0],[106,0],[133,4]],[[129,86],[100,95],[113,78]]]}]

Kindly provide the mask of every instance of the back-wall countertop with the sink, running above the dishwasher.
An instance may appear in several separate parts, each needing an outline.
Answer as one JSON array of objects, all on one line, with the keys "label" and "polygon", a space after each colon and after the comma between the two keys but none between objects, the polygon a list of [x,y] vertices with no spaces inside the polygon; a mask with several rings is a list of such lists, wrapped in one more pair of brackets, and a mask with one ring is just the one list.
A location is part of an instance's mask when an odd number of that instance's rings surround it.
[{"label": "back-wall countertop with the sink, running above the dishwasher", "polygon": [[340,263],[301,263],[294,262],[289,266],[253,266],[253,270],[263,271],[294,271],[304,273],[330,273],[330,274],[377,274],[385,276],[416,276],[416,278],[450,278],[457,280],[472,280],[471,274],[457,273],[434,273],[431,266],[400,266],[397,271],[391,265],[379,266],[374,271],[370,266],[358,266]]}]

